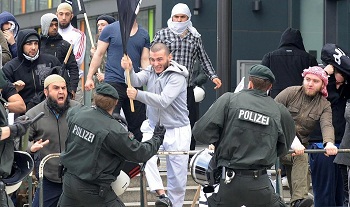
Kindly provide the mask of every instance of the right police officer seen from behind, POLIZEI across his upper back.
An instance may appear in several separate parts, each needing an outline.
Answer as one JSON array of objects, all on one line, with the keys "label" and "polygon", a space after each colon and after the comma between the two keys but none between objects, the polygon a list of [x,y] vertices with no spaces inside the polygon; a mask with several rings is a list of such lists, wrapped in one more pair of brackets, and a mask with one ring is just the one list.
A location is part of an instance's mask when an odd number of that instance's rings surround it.
[{"label": "right police officer seen from behind, POLIZEI across his upper back", "polygon": [[219,191],[208,198],[210,207],[285,205],[266,169],[287,153],[295,126],[288,110],[267,95],[274,81],[269,68],[252,66],[248,89],[225,93],[196,122],[195,139],[216,146],[223,174]]}]

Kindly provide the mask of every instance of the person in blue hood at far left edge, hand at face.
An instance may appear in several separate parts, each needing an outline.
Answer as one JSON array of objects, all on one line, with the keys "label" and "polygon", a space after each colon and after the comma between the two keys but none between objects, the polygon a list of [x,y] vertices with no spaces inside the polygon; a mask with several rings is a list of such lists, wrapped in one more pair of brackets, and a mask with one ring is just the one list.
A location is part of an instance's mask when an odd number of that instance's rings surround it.
[{"label": "person in blue hood at far left edge, hand at face", "polygon": [[3,11],[0,14],[0,27],[7,40],[12,58],[17,57],[16,38],[19,32],[19,24],[17,23],[16,18],[11,13]]}]

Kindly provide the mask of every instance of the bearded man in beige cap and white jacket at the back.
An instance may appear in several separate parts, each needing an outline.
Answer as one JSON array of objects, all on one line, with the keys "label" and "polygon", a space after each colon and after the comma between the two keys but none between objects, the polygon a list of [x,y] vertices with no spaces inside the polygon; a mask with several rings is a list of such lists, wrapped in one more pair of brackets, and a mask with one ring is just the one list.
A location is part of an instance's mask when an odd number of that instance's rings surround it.
[{"label": "bearded man in beige cap and white jacket at the back", "polygon": [[73,44],[73,54],[75,60],[78,63],[79,70],[79,83],[75,94],[75,100],[83,103],[84,94],[82,87],[82,77],[84,75],[82,64],[84,62],[85,50],[86,50],[86,36],[79,29],[72,26],[71,21],[74,17],[72,6],[68,3],[61,3],[57,7],[56,15],[58,17],[58,33],[64,40]]}]

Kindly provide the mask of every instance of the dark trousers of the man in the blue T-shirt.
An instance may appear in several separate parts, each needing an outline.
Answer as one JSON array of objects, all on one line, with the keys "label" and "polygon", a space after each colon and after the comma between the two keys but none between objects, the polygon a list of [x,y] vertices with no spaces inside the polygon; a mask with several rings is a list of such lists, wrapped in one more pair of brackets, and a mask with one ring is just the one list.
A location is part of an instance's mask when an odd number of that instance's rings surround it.
[{"label": "dark trousers of the man in the blue T-shirt", "polygon": [[[142,122],[146,119],[145,104],[139,101],[134,101],[135,112],[131,112],[130,100],[126,95],[126,89],[128,86],[125,83],[109,82],[109,84],[113,86],[118,91],[118,94],[119,94],[118,104],[114,112],[120,113],[120,110],[123,109],[126,121],[128,122],[129,131],[134,134],[135,139],[137,139],[138,141],[141,141],[142,133],[140,131],[140,127]],[[137,89],[142,90],[142,88],[137,88]]]}]

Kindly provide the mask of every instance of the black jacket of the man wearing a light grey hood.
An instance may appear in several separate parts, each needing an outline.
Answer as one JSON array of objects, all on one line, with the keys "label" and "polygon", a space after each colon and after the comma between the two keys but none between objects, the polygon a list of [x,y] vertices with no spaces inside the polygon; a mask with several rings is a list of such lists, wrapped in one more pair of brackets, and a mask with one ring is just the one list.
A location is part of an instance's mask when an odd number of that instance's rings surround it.
[{"label": "black jacket of the man wearing a light grey hood", "polygon": [[[55,57],[63,64],[66,54],[68,52],[70,43],[65,41],[60,34],[57,34],[54,37],[41,36],[41,46],[40,50],[42,54],[50,54]],[[67,64],[66,70],[69,74],[69,80],[66,80],[69,91],[77,91],[78,82],[79,82],[79,68],[73,51],[71,52]]]}]

